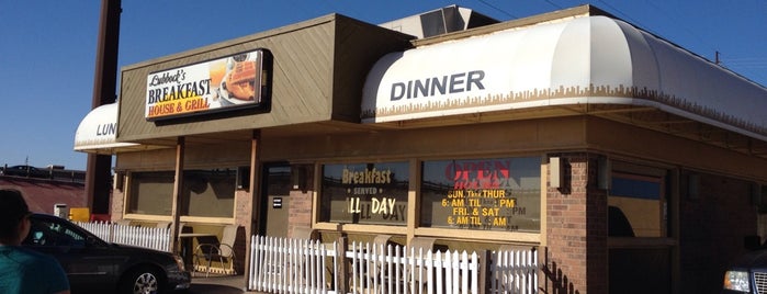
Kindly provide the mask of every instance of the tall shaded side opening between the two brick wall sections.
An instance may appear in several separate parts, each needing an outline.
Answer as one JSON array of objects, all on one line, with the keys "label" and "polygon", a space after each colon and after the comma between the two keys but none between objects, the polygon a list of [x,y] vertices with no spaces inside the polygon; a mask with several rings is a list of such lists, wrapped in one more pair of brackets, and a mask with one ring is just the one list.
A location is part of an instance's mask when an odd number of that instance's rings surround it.
[{"label": "tall shaded side opening between the two brick wall sections", "polygon": [[[670,293],[668,170],[613,162],[608,203],[610,293]],[[635,283],[642,272],[645,283]]]}]

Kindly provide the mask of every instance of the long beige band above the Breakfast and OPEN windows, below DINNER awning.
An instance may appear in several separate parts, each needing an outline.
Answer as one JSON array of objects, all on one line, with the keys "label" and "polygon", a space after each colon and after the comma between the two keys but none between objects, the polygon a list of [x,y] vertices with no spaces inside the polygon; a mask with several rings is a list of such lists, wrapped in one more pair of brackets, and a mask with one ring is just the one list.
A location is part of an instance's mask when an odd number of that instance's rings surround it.
[{"label": "long beige band above the Breakfast and OPEN windows, below DINNER awning", "polygon": [[263,138],[261,158],[343,160],[507,155],[583,148],[583,118],[530,120],[420,129],[386,129],[353,135]]}]

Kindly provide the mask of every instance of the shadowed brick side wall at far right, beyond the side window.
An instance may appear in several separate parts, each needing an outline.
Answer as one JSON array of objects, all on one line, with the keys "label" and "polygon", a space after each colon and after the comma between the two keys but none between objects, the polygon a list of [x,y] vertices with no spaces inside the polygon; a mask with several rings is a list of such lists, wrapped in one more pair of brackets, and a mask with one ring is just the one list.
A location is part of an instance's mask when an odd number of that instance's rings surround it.
[{"label": "shadowed brick side wall at far right, beyond the side window", "polygon": [[[687,192],[690,174],[699,177],[697,195]],[[752,183],[695,172],[681,178],[679,286],[685,293],[713,293],[727,264],[746,252],[744,238],[757,235]]]}]

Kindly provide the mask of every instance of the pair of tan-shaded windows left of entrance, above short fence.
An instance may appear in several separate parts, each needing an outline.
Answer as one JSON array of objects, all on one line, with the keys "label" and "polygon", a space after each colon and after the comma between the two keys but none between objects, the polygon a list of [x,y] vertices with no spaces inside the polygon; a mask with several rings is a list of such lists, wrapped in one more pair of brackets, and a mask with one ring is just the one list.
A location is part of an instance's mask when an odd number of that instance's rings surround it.
[{"label": "pair of tan-shaded windows left of entrance, above short fence", "polygon": [[[173,171],[133,172],[128,214],[171,215]],[[234,217],[236,169],[184,171],[181,215]]]}]

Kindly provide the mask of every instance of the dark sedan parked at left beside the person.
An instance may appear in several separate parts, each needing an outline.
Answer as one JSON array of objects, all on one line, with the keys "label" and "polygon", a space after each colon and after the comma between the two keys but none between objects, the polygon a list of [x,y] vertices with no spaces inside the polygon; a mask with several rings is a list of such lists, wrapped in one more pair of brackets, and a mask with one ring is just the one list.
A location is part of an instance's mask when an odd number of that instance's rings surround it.
[{"label": "dark sedan parked at left beside the person", "polygon": [[191,284],[179,256],[110,244],[53,215],[33,214],[30,220],[24,246],[58,259],[72,293],[167,293]]}]

